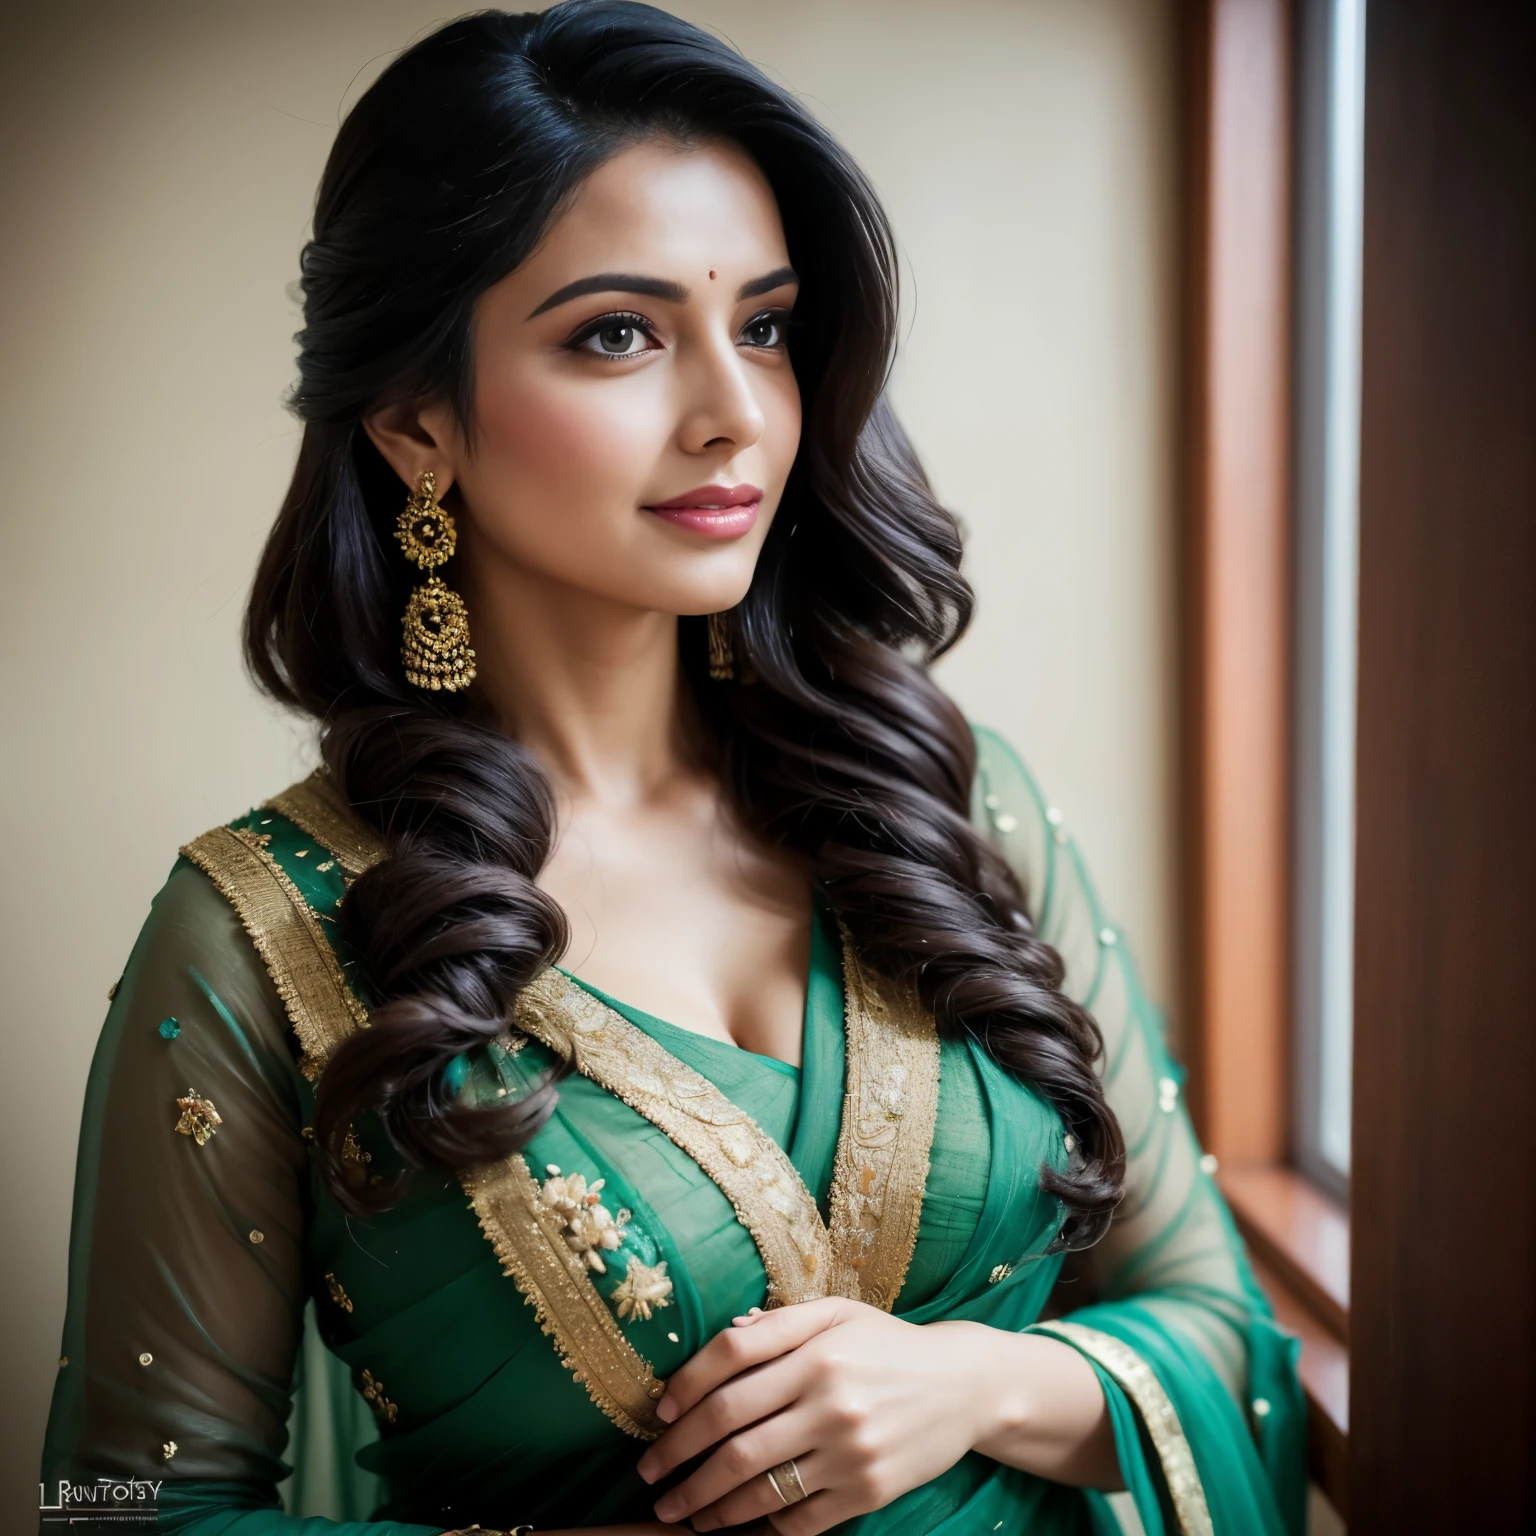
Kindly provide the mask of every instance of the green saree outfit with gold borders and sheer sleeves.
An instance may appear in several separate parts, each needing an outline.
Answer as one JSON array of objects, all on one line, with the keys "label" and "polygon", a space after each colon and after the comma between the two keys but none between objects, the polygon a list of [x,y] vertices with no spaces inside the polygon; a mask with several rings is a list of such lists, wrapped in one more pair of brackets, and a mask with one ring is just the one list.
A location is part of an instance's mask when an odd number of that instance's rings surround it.
[{"label": "green saree outfit with gold borders and sheer sleeves", "polygon": [[[378,849],[316,779],[183,849],[115,989],[45,1487],[147,1478],[177,1536],[648,1519],[657,1490],[634,1462],[665,1378],[751,1306],[851,1295],[1078,1349],[1127,1493],[971,1455],[842,1531],[1299,1531],[1295,1344],[1058,813],[1003,742],[978,748],[977,822],[1104,1031],[1129,1147],[1086,1286],[1057,1287],[1048,1252],[1061,1213],[1038,1169],[1071,1155],[1055,1114],[974,1041],[938,1040],[823,911],[799,1069],[551,969],[450,1072],[485,1100],[574,1057],[525,1154],[346,1217],[306,1127],[327,1055],[367,1026],[332,914]],[[349,1166],[392,1172],[378,1127],[358,1127]]]}]

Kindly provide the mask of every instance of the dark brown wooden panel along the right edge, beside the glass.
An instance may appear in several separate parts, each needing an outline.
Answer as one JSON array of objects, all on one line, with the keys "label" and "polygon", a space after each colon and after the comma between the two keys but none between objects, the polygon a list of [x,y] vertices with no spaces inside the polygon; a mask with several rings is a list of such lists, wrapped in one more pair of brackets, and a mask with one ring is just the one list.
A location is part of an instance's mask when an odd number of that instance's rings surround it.
[{"label": "dark brown wooden panel along the right edge, beside the glass", "polygon": [[1350,1531],[1536,1521],[1531,6],[1372,3]]}]

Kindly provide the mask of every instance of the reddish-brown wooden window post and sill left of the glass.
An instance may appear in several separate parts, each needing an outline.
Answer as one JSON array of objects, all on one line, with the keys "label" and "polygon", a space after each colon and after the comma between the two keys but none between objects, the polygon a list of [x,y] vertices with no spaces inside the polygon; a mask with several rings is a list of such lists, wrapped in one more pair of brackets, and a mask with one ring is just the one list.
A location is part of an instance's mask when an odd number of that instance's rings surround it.
[{"label": "reddish-brown wooden window post and sill left of the glass", "polygon": [[1278,1319],[1310,1470],[1347,1510],[1349,1217],[1290,1166],[1295,17],[1183,14],[1181,1041],[1190,1109]]}]

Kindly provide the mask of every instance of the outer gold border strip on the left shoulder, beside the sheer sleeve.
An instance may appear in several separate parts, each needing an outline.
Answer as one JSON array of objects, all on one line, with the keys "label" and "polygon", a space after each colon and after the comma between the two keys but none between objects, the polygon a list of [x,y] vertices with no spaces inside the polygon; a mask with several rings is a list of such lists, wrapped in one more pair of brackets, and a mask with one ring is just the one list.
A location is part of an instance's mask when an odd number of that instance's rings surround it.
[{"label": "outer gold border strip on the left shoulder, beside the sheer sleeve", "polygon": [[369,1023],[319,920],[255,833],[217,826],[181,852],[240,915],[298,1035],[300,1069],[313,1081],[330,1052]]}]

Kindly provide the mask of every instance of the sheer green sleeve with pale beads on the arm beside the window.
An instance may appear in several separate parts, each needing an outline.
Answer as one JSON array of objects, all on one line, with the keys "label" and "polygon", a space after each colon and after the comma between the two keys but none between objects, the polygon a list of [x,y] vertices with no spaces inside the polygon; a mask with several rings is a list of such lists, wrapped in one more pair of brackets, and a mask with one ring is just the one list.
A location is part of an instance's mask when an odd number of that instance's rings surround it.
[{"label": "sheer green sleeve with pale beads on the arm beside the window", "polygon": [[[1092,1330],[1150,1367],[1177,1409],[1217,1531],[1299,1531],[1296,1344],[1253,1279],[1215,1160],[1201,1155],[1184,1111],[1161,1015],[1061,813],[1006,742],[977,731],[977,822],[1020,876],[1037,931],[1066,963],[1068,992],[1103,1032],[1104,1091],[1126,1138],[1124,1201],[1089,1255],[1094,1304],[1069,1312],[1061,1333],[1080,1344]],[[1134,1441],[1121,1436],[1121,1445],[1134,1453]],[[1167,1519],[1177,1530],[1172,1510]]]}]

